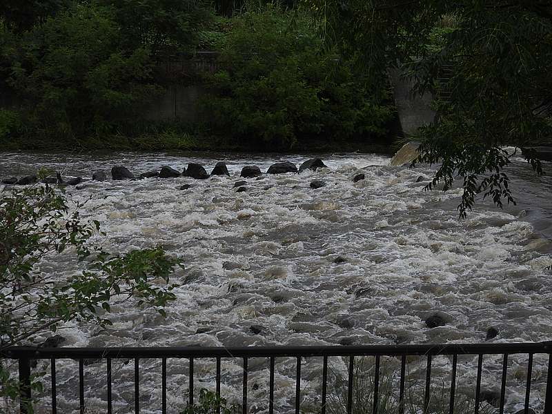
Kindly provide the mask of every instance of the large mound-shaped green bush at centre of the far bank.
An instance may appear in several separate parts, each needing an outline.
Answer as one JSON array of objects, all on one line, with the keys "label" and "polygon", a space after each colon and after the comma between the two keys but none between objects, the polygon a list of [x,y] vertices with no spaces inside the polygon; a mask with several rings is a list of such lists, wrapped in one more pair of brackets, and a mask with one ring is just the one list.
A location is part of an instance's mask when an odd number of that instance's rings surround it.
[{"label": "large mound-shaped green bush at centre of the far bank", "polygon": [[393,115],[386,88],[370,87],[350,60],[322,50],[300,13],[289,19],[275,6],[244,13],[224,39],[219,64],[204,119],[213,133],[248,148],[381,137]]}]

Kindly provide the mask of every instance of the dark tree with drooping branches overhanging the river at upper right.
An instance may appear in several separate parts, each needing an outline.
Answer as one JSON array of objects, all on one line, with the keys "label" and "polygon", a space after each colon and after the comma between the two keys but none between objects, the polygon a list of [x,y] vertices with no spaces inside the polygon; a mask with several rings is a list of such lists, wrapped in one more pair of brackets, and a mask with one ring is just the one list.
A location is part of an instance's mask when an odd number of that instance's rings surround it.
[{"label": "dark tree with drooping branches overhanging the river at upper right", "polygon": [[[440,162],[433,184],[464,177],[460,215],[484,191],[499,206],[513,201],[502,146],[549,143],[552,3],[525,0],[304,0],[326,39],[357,58],[373,81],[401,66],[416,90],[451,92],[439,117],[422,128],[419,161]],[[451,21],[448,30],[440,30]],[[439,32],[439,41],[436,34]],[[449,81],[438,81],[452,68]],[[537,172],[540,163],[526,158]]]}]

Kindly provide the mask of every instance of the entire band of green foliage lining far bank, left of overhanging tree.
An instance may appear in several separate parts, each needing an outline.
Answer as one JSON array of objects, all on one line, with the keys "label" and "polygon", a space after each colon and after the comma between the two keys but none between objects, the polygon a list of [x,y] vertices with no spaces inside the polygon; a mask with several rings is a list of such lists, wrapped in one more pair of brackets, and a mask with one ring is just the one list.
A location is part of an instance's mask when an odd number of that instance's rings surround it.
[{"label": "entire band of green foliage lining far bank, left of overhanging tree", "polygon": [[[393,116],[386,82],[324,50],[295,1],[30,3],[0,8],[0,92],[12,97],[0,99],[3,148],[288,150],[310,139],[368,143]],[[221,55],[206,122],[147,117],[167,88],[199,81],[157,62],[195,50]]]}]

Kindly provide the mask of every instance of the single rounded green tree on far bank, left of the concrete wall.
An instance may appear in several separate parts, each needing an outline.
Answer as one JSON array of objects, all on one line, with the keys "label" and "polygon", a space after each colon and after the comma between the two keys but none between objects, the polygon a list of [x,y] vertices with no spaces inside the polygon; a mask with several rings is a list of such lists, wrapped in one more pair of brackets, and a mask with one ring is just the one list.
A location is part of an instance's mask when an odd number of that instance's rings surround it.
[{"label": "single rounded green tree on far bank, left of the concrete wall", "polygon": [[9,83],[27,100],[32,132],[75,139],[112,132],[160,88],[147,48],[125,50],[112,10],[79,4],[25,32],[9,57]]}]

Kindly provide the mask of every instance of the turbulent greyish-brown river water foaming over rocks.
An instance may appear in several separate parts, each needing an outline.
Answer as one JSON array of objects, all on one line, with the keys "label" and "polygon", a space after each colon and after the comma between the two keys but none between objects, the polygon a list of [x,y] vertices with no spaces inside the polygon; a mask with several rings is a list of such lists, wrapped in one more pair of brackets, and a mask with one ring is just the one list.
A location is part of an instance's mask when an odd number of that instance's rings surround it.
[{"label": "turbulent greyish-brown river water foaming over rocks", "polygon": [[[298,165],[307,158],[4,153],[3,177],[46,167],[90,178],[115,165],[139,174],[164,165],[181,170],[190,161],[208,171],[216,161],[226,161],[230,170],[230,177],[206,180],[86,181],[68,188],[69,199],[92,196],[83,217],[101,222],[106,237],[98,235],[96,241],[107,250],[161,244],[184,259],[186,268],[172,279],[177,300],[166,318],[128,300],[112,306],[110,328],[67,326],[61,331],[67,339],[63,346],[473,343],[484,342],[491,326],[499,334],[490,342],[552,339],[550,176],[535,177],[529,166],[515,161],[510,173],[517,206],[500,210],[480,199],[464,220],[455,210],[460,189],[424,191],[432,168],[392,167],[380,155],[324,155],[328,168],[248,179],[245,193],[233,188],[243,166],[265,171],[283,159]],[[359,172],[366,179],[353,183]],[[313,190],[313,179],[327,185]],[[192,187],[179,190],[183,184]],[[337,257],[344,261],[335,263]],[[43,270],[60,277],[71,271],[55,261],[44,263]],[[435,314],[446,324],[428,328],[425,320]],[[510,359],[506,404],[512,413],[524,401],[525,359]],[[495,388],[501,360],[486,359],[483,388]],[[466,389],[475,381],[473,363],[466,359],[459,371]],[[546,363],[535,355],[531,405],[537,410],[542,409]],[[172,412],[185,405],[186,364],[168,368]],[[202,379],[196,388],[213,386],[213,364],[196,363]],[[291,359],[278,364],[276,405],[282,412],[293,403],[294,364]],[[444,357],[434,364],[436,373],[450,368]],[[119,413],[130,412],[132,405],[131,365],[117,365]],[[333,368],[342,371],[342,365],[336,359]],[[158,413],[159,392],[150,390],[160,383],[159,362],[149,367],[142,374],[141,405],[145,413]],[[303,367],[306,412],[316,411],[311,407],[319,399],[319,367],[314,361]],[[266,368],[264,360],[250,363],[250,411],[266,411]],[[86,369],[94,378],[86,386],[89,412],[105,412],[105,368],[91,364]],[[224,364],[223,391],[230,400],[241,395],[241,369],[239,361]],[[59,371],[64,378],[59,404],[70,413],[76,408],[75,363],[66,362]]]}]

